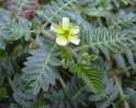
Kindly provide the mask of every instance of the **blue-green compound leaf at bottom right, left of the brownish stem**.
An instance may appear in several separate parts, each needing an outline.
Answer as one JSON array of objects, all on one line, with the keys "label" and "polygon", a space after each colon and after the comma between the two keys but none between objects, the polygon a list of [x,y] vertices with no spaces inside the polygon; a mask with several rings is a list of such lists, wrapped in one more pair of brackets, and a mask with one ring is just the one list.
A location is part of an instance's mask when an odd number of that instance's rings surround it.
[{"label": "blue-green compound leaf at bottom right, left of the brownish stem", "polygon": [[116,103],[114,103],[114,100],[117,98],[117,95],[118,95],[118,86],[114,85],[113,79],[107,80],[106,75],[103,77],[103,83],[104,83],[103,92],[98,95],[95,94],[91,95],[89,97],[89,100],[91,101],[101,100],[101,103],[98,105],[98,108],[106,108],[111,104],[114,107],[116,107]]}]

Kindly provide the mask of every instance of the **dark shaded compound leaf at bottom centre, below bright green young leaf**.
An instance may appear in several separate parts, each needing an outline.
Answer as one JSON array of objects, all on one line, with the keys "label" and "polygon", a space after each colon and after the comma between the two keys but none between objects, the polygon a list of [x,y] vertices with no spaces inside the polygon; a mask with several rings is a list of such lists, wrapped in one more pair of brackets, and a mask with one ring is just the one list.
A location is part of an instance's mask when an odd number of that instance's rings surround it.
[{"label": "dark shaded compound leaf at bottom centre, below bright green young leaf", "polygon": [[[88,87],[79,80],[77,75],[71,79],[71,82],[67,83],[66,89],[60,89],[58,93],[53,91],[53,94],[45,94],[45,98],[50,99],[52,107],[68,108],[83,106],[83,103],[87,105],[89,103],[90,92]],[[64,103],[65,101],[65,103]]]}]

